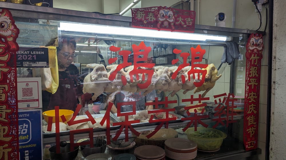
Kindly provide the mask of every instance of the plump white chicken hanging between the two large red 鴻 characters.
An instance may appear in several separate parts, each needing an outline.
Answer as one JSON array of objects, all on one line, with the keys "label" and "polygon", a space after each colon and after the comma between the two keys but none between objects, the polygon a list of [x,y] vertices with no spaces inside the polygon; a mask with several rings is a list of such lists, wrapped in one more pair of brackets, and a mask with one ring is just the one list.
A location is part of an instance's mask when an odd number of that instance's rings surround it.
[{"label": "plump white chicken hanging between the two large red \u9d3b characters", "polygon": [[159,80],[155,84],[155,89],[158,90],[157,93],[161,93],[168,89],[168,84],[171,82],[170,80],[170,69],[169,67],[164,66],[156,66],[155,69],[157,70]]}]

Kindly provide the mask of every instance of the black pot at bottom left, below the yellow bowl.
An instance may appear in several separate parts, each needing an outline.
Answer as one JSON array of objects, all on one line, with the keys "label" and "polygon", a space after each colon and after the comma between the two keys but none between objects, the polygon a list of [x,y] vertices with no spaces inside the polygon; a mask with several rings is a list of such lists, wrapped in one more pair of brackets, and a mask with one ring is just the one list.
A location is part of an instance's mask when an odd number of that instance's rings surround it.
[{"label": "black pot at bottom left, below the yellow bowl", "polygon": [[70,143],[67,143],[65,147],[61,147],[61,153],[56,153],[56,146],[49,148],[51,160],[70,159],[75,160],[78,155],[78,146],[74,147],[74,151],[70,151]]}]

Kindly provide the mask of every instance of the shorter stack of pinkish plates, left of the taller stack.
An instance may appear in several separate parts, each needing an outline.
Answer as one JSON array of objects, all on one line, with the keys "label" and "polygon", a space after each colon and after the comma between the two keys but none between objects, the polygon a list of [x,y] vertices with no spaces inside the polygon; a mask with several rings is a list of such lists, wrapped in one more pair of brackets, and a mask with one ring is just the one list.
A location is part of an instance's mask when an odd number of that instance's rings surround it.
[{"label": "shorter stack of pinkish plates, left of the taller stack", "polygon": [[134,150],[136,160],[164,160],[165,151],[155,145],[142,145]]}]

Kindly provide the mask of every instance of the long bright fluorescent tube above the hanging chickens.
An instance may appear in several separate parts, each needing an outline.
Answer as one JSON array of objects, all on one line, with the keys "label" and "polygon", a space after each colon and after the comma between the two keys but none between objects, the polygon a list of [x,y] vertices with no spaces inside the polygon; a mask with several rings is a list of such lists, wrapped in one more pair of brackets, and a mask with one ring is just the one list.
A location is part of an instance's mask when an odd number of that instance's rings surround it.
[{"label": "long bright fluorescent tube above the hanging chickens", "polygon": [[58,30],[66,30],[73,32],[85,32],[98,33],[98,34],[113,34],[123,36],[138,36],[138,37],[151,37],[151,38],[166,38],[166,39],[180,39],[180,40],[217,40],[226,41],[229,37],[226,36],[211,36],[206,34],[194,34],[194,33],[182,33],[182,32],[168,32],[158,31],[140,28],[127,28],[116,26],[103,26],[94,24],[82,24],[82,23],[68,23],[60,22]]}]

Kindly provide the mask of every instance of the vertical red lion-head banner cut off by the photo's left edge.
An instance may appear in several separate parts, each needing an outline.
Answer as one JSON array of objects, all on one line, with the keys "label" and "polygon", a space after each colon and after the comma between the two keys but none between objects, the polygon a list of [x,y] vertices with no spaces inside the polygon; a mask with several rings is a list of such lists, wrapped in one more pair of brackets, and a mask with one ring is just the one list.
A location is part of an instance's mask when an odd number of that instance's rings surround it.
[{"label": "vertical red lion-head banner cut off by the photo's left edge", "polygon": [[16,39],[19,29],[7,9],[0,12],[0,159],[19,159]]}]

